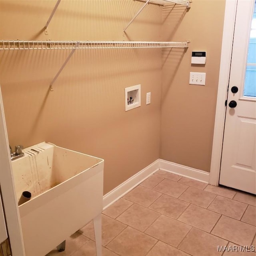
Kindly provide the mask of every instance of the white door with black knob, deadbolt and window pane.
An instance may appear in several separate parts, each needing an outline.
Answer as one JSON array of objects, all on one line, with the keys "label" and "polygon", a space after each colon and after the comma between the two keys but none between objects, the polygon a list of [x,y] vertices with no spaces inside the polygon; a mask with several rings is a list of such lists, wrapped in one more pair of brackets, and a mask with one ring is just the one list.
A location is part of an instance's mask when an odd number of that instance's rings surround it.
[{"label": "white door with black knob, deadbolt and window pane", "polygon": [[256,194],[254,6],[255,0],[237,2],[219,184]]}]

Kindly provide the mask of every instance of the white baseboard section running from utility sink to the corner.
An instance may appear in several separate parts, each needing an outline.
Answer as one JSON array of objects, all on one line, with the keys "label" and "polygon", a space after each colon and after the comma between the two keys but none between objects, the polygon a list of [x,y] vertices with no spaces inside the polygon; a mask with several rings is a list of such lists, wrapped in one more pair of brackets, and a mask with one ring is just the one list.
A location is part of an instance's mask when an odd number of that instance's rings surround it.
[{"label": "white baseboard section running from utility sink to the corner", "polygon": [[159,159],[154,161],[152,164],[141,170],[140,172],[134,174],[134,176],[130,177],[128,180],[108,192],[103,196],[103,210],[105,210],[108,206],[116,202],[120,197],[124,196],[124,194],[128,193],[130,190],[135,188],[138,184],[140,184],[143,180],[148,178],[151,174],[159,170]]}]

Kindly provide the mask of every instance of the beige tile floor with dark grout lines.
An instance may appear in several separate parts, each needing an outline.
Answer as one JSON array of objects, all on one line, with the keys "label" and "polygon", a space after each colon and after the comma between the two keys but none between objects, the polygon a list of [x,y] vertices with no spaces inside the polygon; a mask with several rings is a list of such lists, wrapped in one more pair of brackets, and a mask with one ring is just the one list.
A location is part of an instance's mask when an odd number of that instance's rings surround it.
[{"label": "beige tile floor with dark grout lines", "polygon": [[[255,206],[255,196],[159,170],[102,213],[102,255],[256,256],[227,251],[256,247]],[[94,240],[90,222],[48,255],[96,256]]]}]

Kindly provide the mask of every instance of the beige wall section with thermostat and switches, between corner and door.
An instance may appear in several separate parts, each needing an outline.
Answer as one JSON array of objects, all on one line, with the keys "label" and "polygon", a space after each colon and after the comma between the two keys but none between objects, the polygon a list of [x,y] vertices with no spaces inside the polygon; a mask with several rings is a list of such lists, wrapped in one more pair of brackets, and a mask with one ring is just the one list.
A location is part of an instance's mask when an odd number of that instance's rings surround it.
[{"label": "beige wall section with thermostat and switches, between corner and door", "polygon": [[[163,54],[160,158],[209,172],[224,0],[193,0],[190,10],[166,8],[162,40],[190,40],[184,51]],[[192,51],[207,52],[206,65],[191,64]],[[206,85],[190,85],[189,72],[206,72]],[[224,104],[224,102],[223,102]]]}]

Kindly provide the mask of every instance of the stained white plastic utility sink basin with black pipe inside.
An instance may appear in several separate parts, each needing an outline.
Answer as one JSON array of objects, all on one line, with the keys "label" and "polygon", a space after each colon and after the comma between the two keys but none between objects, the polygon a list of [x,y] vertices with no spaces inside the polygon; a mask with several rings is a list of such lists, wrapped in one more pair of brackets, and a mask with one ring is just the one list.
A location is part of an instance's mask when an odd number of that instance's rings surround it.
[{"label": "stained white plastic utility sink basin with black pipe inside", "polygon": [[42,142],[12,161],[26,256],[44,256],[103,208],[104,160]]}]

